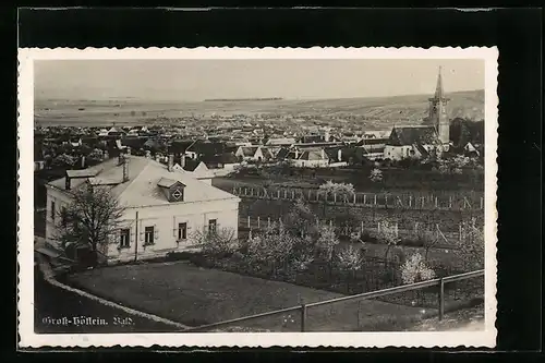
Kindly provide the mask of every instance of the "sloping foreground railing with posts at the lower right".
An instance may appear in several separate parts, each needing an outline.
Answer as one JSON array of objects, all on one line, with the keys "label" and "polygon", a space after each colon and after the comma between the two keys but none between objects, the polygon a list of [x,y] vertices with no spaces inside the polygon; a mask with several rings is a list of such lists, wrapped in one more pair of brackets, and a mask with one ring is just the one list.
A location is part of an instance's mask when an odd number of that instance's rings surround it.
[{"label": "sloping foreground railing with posts at the lower right", "polygon": [[189,328],[185,330],[182,330],[181,332],[194,332],[194,331],[210,331],[214,329],[219,329],[219,328],[225,328],[228,326],[233,326],[235,324],[240,323],[247,323],[251,320],[264,318],[264,317],[269,317],[269,316],[275,316],[279,314],[287,314],[287,313],[299,313],[300,314],[300,331],[308,331],[307,330],[307,313],[310,308],[313,307],[318,307],[318,306],[325,306],[325,305],[331,305],[331,304],[337,304],[337,303],[343,303],[343,302],[349,302],[349,301],[362,301],[362,300],[368,300],[368,299],[377,299],[377,298],[384,298],[397,293],[403,293],[408,291],[415,291],[415,290],[421,290],[421,289],[426,289],[426,288],[433,288],[437,287],[438,292],[437,292],[437,310],[438,310],[438,318],[441,320],[445,315],[445,286],[448,283],[452,283],[456,281],[461,281],[461,280],[468,280],[468,279],[473,279],[477,277],[484,277],[484,269],[481,270],[475,270],[471,273],[464,273],[464,274],[459,274],[459,275],[453,275],[453,276],[447,276],[443,278],[436,278],[433,280],[427,280],[427,281],[421,281],[421,282],[415,282],[415,283],[410,283],[410,285],[402,285],[402,286],[397,286],[393,288],[388,288],[384,290],[377,290],[377,291],[371,291],[371,292],[364,292],[364,293],[359,293],[354,295],[349,295],[349,297],[342,297],[342,298],[337,298],[337,299],[330,299],[330,300],[325,300],[325,301],[318,301],[318,302],[312,302],[312,303],[305,303],[304,301],[301,302],[301,305],[298,306],[290,306],[281,310],[276,310],[271,312],[266,312],[262,314],[255,314],[255,315],[250,315],[250,316],[243,316],[230,320],[225,320],[225,322],[219,322],[219,323],[214,323],[214,324],[207,324],[194,328]]}]

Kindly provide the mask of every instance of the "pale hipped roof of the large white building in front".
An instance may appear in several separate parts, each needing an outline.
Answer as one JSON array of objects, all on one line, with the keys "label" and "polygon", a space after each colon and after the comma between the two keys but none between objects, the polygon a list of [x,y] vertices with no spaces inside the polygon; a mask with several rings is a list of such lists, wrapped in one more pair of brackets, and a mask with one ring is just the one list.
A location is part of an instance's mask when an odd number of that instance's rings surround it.
[{"label": "pale hipped roof of the large white building in front", "polygon": [[[124,183],[122,182],[123,167],[118,166],[118,160],[114,158],[87,169],[99,170],[96,178],[109,181],[118,180],[119,184],[112,186],[111,191],[125,206],[170,204],[157,185],[161,179],[170,179],[185,185],[184,203],[237,198],[232,194],[197,180],[191,172],[170,172],[167,166],[160,162],[134,155],[128,156],[128,159],[129,181]],[[73,179],[71,181],[72,189],[84,185],[86,180]],[[64,178],[55,180],[49,184],[64,190]]]}]

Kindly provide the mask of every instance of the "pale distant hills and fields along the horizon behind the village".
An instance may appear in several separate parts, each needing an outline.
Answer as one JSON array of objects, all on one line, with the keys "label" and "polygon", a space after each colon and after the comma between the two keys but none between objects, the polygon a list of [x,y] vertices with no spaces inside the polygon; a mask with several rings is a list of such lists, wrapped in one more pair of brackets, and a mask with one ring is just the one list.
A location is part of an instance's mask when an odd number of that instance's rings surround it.
[{"label": "pale distant hills and fields along the horizon behind the village", "polygon": [[[62,100],[36,99],[35,119],[43,124],[133,123],[153,118],[192,114],[269,113],[291,117],[335,118],[370,129],[393,124],[420,124],[428,113],[431,95],[338,99],[253,99],[207,101],[146,101],[138,99]],[[447,94],[449,118],[484,119],[484,90]]]}]

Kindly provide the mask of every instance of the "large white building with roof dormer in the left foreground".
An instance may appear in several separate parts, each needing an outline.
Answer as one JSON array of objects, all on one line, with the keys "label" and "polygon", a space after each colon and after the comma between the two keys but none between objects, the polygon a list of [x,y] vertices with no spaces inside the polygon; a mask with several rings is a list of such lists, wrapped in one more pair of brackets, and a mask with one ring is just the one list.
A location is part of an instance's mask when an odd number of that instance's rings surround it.
[{"label": "large white building with roof dormer in the left foreground", "polygon": [[84,170],[69,170],[47,187],[46,238],[56,238],[56,218],[70,191],[102,185],[126,209],[104,254],[108,261],[145,259],[194,249],[196,231],[231,229],[237,235],[240,198],[149,158],[126,155]]}]

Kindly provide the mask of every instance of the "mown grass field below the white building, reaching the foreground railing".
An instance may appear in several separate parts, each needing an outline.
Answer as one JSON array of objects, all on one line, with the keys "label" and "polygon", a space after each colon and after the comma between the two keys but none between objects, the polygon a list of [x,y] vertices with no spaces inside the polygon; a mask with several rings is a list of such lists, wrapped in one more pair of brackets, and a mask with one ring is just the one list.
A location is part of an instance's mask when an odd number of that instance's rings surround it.
[{"label": "mown grass field below the white building, reaching the foreground railing", "polygon": [[[253,278],[185,262],[128,265],[89,270],[69,282],[99,297],[161,317],[198,326],[342,297],[286,282]],[[379,301],[332,304],[308,310],[308,331],[385,330],[420,320],[417,307]],[[272,331],[298,331],[298,313],[240,323]]]}]

